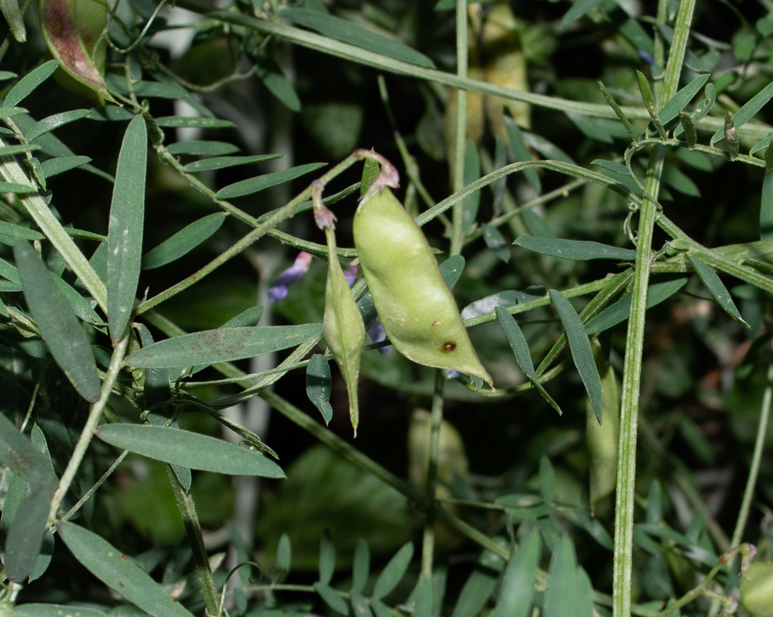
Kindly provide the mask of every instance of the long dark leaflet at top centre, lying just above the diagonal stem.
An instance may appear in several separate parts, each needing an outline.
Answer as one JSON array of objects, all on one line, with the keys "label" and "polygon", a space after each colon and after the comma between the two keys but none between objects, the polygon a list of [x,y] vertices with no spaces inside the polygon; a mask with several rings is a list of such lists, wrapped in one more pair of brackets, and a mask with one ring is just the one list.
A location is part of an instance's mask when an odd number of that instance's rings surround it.
[{"label": "long dark leaflet at top centre, lying just above the diagonal stem", "polygon": [[382,53],[384,56],[423,66],[425,69],[434,69],[432,60],[424,56],[423,53],[417,52],[416,49],[411,49],[401,42],[389,39],[378,32],[363,28],[363,26],[346,19],[339,19],[308,8],[281,8],[279,15],[336,41]]}]

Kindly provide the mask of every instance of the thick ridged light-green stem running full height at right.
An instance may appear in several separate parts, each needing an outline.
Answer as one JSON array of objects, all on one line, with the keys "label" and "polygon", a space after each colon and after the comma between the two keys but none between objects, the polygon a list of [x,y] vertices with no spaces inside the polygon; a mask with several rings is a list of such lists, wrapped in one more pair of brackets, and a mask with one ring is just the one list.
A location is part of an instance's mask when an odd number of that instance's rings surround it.
[{"label": "thick ridged light-green stem running full height at right", "polygon": [[[690,36],[695,0],[681,0],[676,15],[674,36],[663,80],[659,105],[676,94],[679,76]],[[660,176],[666,148],[656,146],[649,155],[645,180],[645,195],[657,199]],[[639,212],[638,238],[636,242],[636,269],[632,290],[631,314],[628,319],[628,335],[625,345],[625,368],[620,415],[620,445],[618,459],[618,483],[615,503],[615,556],[612,591],[614,617],[631,615],[631,579],[633,557],[633,522],[636,478],[636,429],[638,420],[638,395],[642,379],[642,350],[644,347],[647,285],[649,283],[652,231],[657,218],[656,202],[642,199]]]}]

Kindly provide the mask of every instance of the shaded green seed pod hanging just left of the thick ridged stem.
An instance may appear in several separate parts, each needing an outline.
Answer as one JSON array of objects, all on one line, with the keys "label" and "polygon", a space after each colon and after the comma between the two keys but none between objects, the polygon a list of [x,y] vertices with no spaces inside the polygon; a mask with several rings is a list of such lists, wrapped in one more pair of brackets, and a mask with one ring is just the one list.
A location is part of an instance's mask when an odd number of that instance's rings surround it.
[{"label": "shaded green seed pod hanging just left of the thick ridged stem", "polygon": [[618,473],[618,436],[620,434],[620,408],[618,383],[615,371],[601,355],[601,347],[593,346],[593,355],[601,375],[601,417],[598,424],[590,399],[586,397],[587,424],[585,445],[590,458],[591,505],[607,497],[615,490]]}]

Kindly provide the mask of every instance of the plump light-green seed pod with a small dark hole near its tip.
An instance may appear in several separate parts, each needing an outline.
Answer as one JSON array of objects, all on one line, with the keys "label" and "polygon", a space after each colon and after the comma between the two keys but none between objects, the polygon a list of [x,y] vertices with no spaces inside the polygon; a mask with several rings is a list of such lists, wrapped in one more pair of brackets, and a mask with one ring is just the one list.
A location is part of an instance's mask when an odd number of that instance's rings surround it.
[{"label": "plump light-green seed pod with a small dark hole near its tip", "polygon": [[397,351],[492,385],[424,233],[388,188],[366,195],[353,232],[373,303]]}]

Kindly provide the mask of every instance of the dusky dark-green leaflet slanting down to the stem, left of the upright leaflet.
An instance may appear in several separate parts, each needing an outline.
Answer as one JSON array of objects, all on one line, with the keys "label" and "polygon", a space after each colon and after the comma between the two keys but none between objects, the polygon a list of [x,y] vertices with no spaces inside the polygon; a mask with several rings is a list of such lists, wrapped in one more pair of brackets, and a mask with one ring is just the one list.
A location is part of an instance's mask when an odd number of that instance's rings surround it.
[{"label": "dusky dark-green leaflet slanting down to the stem, left of the upright leaflet", "polygon": [[78,393],[87,401],[95,402],[100,396],[100,379],[80,322],[35,249],[26,240],[19,239],[13,252],[29,311],[53,359]]}]

